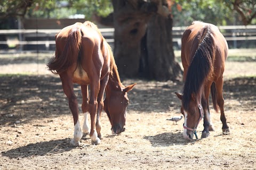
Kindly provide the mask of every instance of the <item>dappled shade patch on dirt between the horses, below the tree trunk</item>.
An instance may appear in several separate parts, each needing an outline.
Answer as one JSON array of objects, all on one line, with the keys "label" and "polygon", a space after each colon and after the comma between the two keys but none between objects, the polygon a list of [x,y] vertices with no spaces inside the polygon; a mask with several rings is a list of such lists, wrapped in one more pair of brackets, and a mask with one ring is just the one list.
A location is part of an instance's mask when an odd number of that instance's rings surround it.
[{"label": "dappled shade patch on dirt between the horses, below the tree trunk", "polygon": [[135,86],[129,91],[129,111],[169,112],[170,107],[180,109],[180,99],[174,92],[181,92],[183,82],[135,80]]}]

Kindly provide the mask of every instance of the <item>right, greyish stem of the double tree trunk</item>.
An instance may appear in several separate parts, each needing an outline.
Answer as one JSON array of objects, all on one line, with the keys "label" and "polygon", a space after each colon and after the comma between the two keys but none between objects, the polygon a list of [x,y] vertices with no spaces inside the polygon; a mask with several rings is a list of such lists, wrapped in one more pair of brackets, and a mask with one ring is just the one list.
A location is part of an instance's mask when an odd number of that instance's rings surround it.
[{"label": "right, greyish stem of the double tree trunk", "polygon": [[172,23],[171,15],[164,17],[159,14],[152,16],[148,22],[147,53],[142,56],[143,69],[140,69],[144,77],[161,81],[181,78],[182,71],[173,52]]}]

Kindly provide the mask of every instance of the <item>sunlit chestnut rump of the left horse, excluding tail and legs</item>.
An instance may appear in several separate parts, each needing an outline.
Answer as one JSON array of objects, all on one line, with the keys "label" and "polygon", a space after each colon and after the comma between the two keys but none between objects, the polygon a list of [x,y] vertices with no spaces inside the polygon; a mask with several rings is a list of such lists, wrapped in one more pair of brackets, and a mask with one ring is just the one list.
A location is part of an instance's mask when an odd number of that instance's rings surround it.
[{"label": "sunlit chestnut rump of the left horse, excluding tail and legs", "polygon": [[[103,43],[105,39],[93,23],[89,24],[86,22],[85,24],[77,22],[69,25],[55,36],[56,58],[60,57],[64,50],[67,50],[67,39],[75,38],[70,33],[74,32],[73,30],[80,33],[79,38],[81,39],[81,43],[78,45],[77,52],[72,48],[68,49],[74,51],[70,52],[70,56],[68,56],[69,58],[73,58],[72,60],[74,62],[67,68],[67,72],[73,74],[74,83],[90,84],[90,77],[92,78],[92,75],[101,76],[109,72],[108,50]],[[75,43],[71,44],[74,45]]]}]

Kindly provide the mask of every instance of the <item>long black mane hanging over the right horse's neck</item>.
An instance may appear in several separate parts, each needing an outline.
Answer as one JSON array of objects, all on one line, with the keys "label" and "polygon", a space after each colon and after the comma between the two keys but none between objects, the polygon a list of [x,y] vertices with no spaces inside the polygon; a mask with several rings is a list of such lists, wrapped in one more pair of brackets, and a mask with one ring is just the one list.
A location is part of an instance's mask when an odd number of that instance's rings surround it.
[{"label": "long black mane hanging over the right horse's neck", "polygon": [[212,76],[213,61],[215,59],[215,44],[210,25],[205,25],[198,32],[198,47],[188,67],[183,88],[182,104],[185,109],[189,107],[191,94],[197,94],[204,82]]}]

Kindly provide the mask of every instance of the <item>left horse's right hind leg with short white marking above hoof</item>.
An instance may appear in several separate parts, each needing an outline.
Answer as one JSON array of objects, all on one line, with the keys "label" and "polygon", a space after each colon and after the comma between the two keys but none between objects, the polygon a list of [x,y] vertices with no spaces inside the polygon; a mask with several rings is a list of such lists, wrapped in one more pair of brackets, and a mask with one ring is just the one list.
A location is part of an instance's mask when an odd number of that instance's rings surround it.
[{"label": "left horse's right hind leg with short white marking above hoof", "polygon": [[97,97],[98,97],[99,89],[100,89],[100,79],[97,79],[97,80],[98,81],[92,82],[90,84],[89,113],[91,115],[90,137],[91,137],[92,145],[100,144],[100,139],[98,138],[98,133],[95,130],[95,115],[96,115],[97,107],[98,107]]}]

